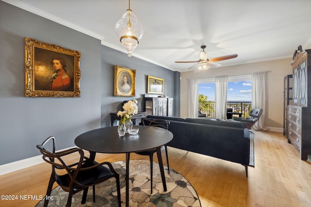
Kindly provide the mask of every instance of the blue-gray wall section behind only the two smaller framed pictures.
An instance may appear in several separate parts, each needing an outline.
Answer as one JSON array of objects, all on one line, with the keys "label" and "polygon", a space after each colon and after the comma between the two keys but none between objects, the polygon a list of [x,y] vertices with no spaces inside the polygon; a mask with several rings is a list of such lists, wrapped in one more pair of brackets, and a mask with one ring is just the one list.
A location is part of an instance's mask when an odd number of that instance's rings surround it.
[{"label": "blue-gray wall section behind only the two smaller framed pictures", "polygon": [[[120,65],[136,70],[135,97],[114,96],[114,66]],[[121,103],[124,100],[138,100],[138,111],[144,111],[144,94],[147,93],[147,77],[155,76],[164,79],[164,94],[179,100],[180,73],[174,72],[155,64],[148,63],[136,57],[128,57],[127,54],[115,49],[102,46],[102,127],[110,126],[110,112],[122,110]],[[108,81],[109,80],[109,81]],[[179,116],[179,101],[174,101],[174,116]]]}]

